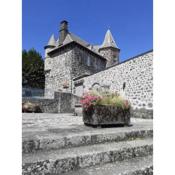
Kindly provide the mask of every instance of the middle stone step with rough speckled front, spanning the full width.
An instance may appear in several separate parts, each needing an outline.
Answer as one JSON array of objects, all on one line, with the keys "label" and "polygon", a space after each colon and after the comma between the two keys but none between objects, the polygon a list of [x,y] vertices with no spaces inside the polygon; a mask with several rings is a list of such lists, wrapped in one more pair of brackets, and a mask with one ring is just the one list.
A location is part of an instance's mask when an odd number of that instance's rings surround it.
[{"label": "middle stone step with rough speckled front, spanning the full width", "polygon": [[23,175],[61,174],[99,164],[152,155],[152,139],[112,142],[23,154]]}]

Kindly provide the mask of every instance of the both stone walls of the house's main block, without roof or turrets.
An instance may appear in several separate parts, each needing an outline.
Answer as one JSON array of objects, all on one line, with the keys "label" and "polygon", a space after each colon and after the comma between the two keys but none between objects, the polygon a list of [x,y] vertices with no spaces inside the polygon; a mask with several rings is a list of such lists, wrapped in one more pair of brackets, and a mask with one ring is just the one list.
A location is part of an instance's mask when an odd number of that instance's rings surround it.
[{"label": "both stone walls of the house's main block, without roof or turrets", "polygon": [[[72,43],[45,59],[45,97],[54,92],[72,92],[72,81],[81,75],[91,75],[105,69],[106,60]],[[66,86],[66,87],[65,87]]]}]

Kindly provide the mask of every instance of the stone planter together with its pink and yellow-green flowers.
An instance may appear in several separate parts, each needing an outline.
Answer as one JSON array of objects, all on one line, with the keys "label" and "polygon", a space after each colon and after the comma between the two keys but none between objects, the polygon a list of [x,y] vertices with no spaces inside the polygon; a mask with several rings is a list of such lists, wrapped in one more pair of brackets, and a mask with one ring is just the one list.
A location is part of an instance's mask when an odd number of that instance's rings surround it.
[{"label": "stone planter together with its pink and yellow-green flowers", "polygon": [[130,125],[130,103],[118,93],[90,91],[81,104],[85,125]]}]

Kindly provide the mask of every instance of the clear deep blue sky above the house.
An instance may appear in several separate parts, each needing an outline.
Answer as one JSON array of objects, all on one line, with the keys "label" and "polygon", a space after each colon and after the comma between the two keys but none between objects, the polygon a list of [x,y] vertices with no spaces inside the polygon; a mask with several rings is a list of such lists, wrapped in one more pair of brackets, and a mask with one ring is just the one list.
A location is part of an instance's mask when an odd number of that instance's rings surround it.
[{"label": "clear deep blue sky above the house", "polygon": [[120,61],[153,48],[152,0],[23,0],[22,47],[34,47],[44,56],[59,23],[92,44],[101,44],[110,28],[121,49]]}]

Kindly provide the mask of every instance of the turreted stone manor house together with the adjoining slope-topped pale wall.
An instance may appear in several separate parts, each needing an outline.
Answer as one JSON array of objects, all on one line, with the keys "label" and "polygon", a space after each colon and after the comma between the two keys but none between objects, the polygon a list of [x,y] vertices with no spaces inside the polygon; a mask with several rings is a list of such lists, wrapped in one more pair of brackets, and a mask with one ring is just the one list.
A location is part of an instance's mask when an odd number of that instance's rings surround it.
[{"label": "turreted stone manor house together with the adjoining slope-topped pale wall", "polygon": [[89,89],[124,92],[133,108],[152,109],[153,51],[120,62],[120,48],[107,30],[100,45],[71,33],[61,21],[59,38],[52,35],[45,49],[45,98],[55,92],[82,96]]}]

